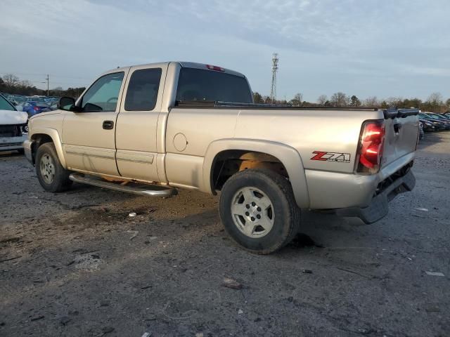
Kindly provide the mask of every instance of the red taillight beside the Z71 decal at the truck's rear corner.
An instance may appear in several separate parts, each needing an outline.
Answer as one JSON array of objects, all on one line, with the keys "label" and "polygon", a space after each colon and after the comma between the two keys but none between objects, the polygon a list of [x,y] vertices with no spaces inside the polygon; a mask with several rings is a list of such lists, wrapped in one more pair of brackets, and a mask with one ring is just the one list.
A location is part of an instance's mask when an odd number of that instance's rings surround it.
[{"label": "red taillight beside the Z71 decal at the truck's rear corner", "polygon": [[385,124],[383,121],[366,121],[359,140],[358,172],[377,173],[380,169],[383,145],[385,142]]}]

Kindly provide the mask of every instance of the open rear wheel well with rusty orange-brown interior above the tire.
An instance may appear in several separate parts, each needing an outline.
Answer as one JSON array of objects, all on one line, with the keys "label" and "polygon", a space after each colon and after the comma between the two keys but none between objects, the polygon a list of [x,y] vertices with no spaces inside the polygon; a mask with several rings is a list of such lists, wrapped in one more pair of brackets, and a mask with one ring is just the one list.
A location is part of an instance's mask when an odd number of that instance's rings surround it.
[{"label": "open rear wheel well with rusty orange-brown interior above the tire", "polygon": [[271,154],[248,150],[226,150],[214,158],[211,170],[212,190],[221,190],[234,173],[247,169],[269,169],[289,178],[283,163]]}]

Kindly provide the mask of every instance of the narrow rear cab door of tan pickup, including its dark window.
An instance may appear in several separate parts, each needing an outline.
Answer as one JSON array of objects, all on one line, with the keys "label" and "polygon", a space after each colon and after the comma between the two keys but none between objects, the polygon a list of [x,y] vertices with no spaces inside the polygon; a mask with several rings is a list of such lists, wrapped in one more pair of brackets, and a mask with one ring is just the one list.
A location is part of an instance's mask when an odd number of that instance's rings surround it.
[{"label": "narrow rear cab door of tan pickup, including its dark window", "polygon": [[116,129],[120,175],[159,181],[157,127],[167,65],[131,67]]}]

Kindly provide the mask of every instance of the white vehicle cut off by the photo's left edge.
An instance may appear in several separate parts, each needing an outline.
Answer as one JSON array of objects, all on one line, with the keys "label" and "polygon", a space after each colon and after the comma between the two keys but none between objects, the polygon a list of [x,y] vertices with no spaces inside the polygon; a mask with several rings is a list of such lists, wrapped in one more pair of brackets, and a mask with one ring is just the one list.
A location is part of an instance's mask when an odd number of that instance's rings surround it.
[{"label": "white vehicle cut off by the photo's left edge", "polygon": [[0,95],[0,152],[18,151],[23,153],[23,141],[27,139],[28,115],[17,111],[11,103]]}]

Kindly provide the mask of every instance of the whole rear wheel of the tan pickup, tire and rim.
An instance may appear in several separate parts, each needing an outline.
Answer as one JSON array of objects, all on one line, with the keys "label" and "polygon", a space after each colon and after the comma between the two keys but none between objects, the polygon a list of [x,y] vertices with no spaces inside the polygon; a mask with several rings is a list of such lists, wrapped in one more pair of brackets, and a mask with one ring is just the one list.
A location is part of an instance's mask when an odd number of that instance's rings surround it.
[{"label": "whole rear wheel of the tan pickup, tire and rim", "polygon": [[283,176],[266,169],[240,171],[221,190],[220,218],[226,232],[248,251],[268,254],[297,234],[300,209]]}]

